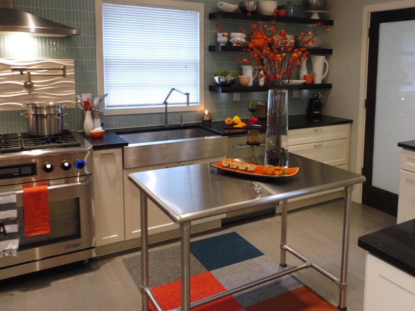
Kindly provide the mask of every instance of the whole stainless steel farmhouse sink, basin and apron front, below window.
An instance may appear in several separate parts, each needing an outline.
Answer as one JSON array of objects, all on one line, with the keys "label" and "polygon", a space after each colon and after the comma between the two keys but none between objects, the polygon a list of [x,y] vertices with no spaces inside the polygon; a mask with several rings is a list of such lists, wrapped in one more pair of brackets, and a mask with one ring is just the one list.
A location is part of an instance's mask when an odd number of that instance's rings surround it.
[{"label": "whole stainless steel farmhouse sink, basin and apron front, below window", "polygon": [[128,142],[124,168],[224,157],[227,137],[202,127],[178,127],[149,131],[118,132]]}]

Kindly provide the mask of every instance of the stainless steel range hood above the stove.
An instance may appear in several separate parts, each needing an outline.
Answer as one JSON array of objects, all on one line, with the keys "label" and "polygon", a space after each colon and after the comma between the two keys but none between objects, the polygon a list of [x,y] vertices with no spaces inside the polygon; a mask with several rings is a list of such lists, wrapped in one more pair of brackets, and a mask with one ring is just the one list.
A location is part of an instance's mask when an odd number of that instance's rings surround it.
[{"label": "stainless steel range hood above the stove", "polygon": [[[10,1],[8,2],[10,4]],[[0,1],[0,33],[30,33],[34,36],[64,37],[80,35],[80,30],[71,28],[33,14],[5,6]]]}]

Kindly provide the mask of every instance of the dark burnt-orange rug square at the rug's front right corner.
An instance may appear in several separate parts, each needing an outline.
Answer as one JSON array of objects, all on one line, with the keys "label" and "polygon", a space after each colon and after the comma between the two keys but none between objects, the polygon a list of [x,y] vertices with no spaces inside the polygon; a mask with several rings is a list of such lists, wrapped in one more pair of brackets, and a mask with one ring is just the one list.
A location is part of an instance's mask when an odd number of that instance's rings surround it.
[{"label": "dark burnt-orange rug square at the rug's front right corner", "polygon": [[339,311],[337,307],[324,300],[308,286],[298,287],[279,296],[248,306],[245,309],[247,311]]}]

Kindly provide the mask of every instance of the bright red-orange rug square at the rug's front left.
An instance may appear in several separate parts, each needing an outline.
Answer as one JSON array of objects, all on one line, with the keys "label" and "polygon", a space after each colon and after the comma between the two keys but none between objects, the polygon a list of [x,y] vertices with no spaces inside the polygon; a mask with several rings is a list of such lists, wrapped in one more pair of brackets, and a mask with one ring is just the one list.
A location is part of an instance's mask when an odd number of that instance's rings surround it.
[{"label": "bright red-orange rug square at the rug's front left", "polygon": [[[182,281],[174,281],[151,289],[158,304],[163,310],[170,310],[182,305]],[[210,272],[205,272],[190,277],[190,302],[220,293],[226,290]],[[149,302],[150,310],[155,310]],[[197,311],[238,311],[243,307],[233,298],[227,296],[217,301],[201,305],[192,310]],[[264,310],[263,310],[264,311]]]}]

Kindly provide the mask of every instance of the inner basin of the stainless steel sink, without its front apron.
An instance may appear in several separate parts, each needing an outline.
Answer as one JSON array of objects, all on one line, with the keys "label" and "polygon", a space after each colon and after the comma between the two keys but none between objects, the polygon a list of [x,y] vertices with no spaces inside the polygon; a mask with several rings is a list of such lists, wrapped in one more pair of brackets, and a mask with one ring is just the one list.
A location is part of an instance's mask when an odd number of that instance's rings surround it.
[{"label": "inner basin of the stainless steel sink, without its front apron", "polygon": [[118,134],[129,144],[160,142],[177,139],[189,139],[205,136],[215,136],[216,134],[204,128],[172,128],[157,130],[152,132],[135,132],[127,134]]}]

